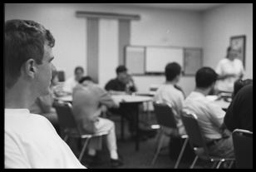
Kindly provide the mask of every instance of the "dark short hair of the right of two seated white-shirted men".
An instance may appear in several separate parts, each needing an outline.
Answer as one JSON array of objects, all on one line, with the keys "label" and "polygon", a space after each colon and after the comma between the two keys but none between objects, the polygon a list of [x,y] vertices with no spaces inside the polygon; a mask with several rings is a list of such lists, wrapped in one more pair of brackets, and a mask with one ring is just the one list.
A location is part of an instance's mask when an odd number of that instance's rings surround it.
[{"label": "dark short hair of the right of two seated white-shirted men", "polygon": [[210,67],[202,67],[195,74],[195,85],[198,88],[208,88],[217,80],[218,74]]}]

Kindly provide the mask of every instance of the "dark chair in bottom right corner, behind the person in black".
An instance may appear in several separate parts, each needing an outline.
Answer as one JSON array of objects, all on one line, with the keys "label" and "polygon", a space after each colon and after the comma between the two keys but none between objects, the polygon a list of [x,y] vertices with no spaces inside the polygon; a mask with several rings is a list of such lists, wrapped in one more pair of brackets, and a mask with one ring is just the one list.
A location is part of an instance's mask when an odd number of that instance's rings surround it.
[{"label": "dark chair in bottom right corner, behind the person in black", "polygon": [[236,168],[253,169],[253,132],[236,129],[232,136]]}]

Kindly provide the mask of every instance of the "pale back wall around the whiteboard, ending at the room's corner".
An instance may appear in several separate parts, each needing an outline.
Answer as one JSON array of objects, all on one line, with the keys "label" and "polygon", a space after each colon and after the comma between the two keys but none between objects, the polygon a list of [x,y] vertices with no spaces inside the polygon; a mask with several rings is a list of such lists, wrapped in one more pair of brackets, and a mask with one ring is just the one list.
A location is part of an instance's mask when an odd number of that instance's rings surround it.
[{"label": "pale back wall around the whiteboard, ending at the room's corner", "polygon": [[[25,3],[6,4],[5,20],[12,18],[31,19],[41,22],[50,29],[57,40],[56,47],[53,48],[56,57],[53,63],[58,69],[65,70],[66,77],[69,77],[73,75],[73,70],[77,65],[86,69],[86,20],[77,18],[76,11],[139,14],[141,20],[131,22],[130,26],[130,44],[132,45],[203,46],[202,17],[199,12],[121,7],[111,4]],[[104,45],[104,42],[102,45]],[[100,66],[110,62],[111,65],[109,66],[115,66],[113,64],[116,61],[116,54],[113,57],[108,54],[107,58],[100,57],[100,59]],[[112,70],[114,71],[115,68]],[[109,70],[105,72],[109,77],[115,75],[115,72]],[[100,77],[102,78],[102,76]],[[108,78],[104,79],[107,80]],[[162,83],[164,78],[163,76],[138,76],[135,77],[135,81],[138,82],[139,91],[147,91],[149,84]],[[184,87],[186,93],[192,91],[194,88],[193,77],[182,78],[180,86]]]}]

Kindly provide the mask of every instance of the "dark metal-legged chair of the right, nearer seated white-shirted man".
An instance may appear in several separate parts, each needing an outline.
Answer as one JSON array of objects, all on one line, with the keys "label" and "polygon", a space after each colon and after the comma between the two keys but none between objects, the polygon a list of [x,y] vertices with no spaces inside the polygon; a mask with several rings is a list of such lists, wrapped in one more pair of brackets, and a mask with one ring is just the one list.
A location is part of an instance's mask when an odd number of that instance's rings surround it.
[{"label": "dark metal-legged chair of the right, nearer seated white-shirted man", "polygon": [[229,168],[231,168],[231,166],[234,163],[234,159],[209,155],[209,151],[206,146],[206,141],[204,140],[204,137],[199,128],[197,116],[194,115],[194,113],[191,113],[189,111],[183,111],[183,114],[181,115],[181,119],[183,121],[183,124],[185,125],[185,130],[189,135],[190,145],[194,150],[194,154],[196,155],[192,165],[190,165],[190,169],[194,168],[194,165],[198,160],[198,158],[202,160],[209,160],[210,162],[214,162],[212,168],[214,168],[215,165],[217,165],[216,169],[219,169],[220,165],[224,161],[231,161],[229,164]]}]

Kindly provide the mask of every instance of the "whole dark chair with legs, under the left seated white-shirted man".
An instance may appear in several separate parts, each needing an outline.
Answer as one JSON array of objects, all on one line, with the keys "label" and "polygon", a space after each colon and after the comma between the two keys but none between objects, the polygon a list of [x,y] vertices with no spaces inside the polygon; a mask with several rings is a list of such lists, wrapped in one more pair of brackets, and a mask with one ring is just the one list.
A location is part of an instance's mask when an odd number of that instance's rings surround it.
[{"label": "whole dark chair with legs, under the left seated white-shirted man", "polygon": [[157,157],[160,153],[161,147],[163,145],[165,135],[169,135],[169,136],[178,137],[180,139],[185,139],[184,144],[182,145],[182,148],[180,150],[178,160],[175,163],[175,169],[177,169],[180,164],[182,155],[185,151],[185,146],[187,145],[187,142],[188,142],[188,135],[170,135],[170,134],[166,133],[165,127],[178,131],[174,113],[173,113],[172,109],[170,108],[170,106],[160,104],[157,102],[154,102],[153,106],[155,109],[156,120],[157,120],[158,124],[160,125],[160,132],[159,132],[159,135],[157,136],[157,140],[158,140],[157,148],[155,151],[154,158],[151,161],[151,165],[155,164],[155,160],[157,159]]}]

